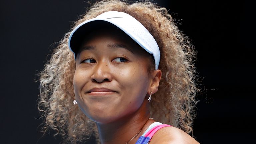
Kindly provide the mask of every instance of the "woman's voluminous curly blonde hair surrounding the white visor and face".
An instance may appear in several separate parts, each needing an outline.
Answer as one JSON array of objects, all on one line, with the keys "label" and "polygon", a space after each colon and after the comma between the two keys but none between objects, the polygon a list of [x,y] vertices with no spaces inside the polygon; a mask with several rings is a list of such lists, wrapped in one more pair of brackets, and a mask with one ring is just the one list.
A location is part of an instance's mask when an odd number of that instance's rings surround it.
[{"label": "woman's voluminous curly blonde hair surrounding the white visor and face", "polygon": [[[86,14],[74,22],[74,29],[85,20],[95,18],[106,11],[125,12],[137,19],[155,38],[160,49],[159,69],[162,71],[158,92],[152,95],[150,113],[156,121],[178,127],[192,133],[195,118],[196,69],[195,51],[189,39],[175,25],[166,8],[149,1],[126,2],[102,0],[87,9]],[[72,30],[71,29],[71,30]],[[40,73],[40,101],[38,109],[45,117],[42,130],[56,130],[71,143],[86,141],[91,135],[98,139],[96,123],[86,117],[74,105],[73,77],[75,59],[68,47],[66,33],[50,60]],[[68,134],[68,135],[66,135]]]}]

